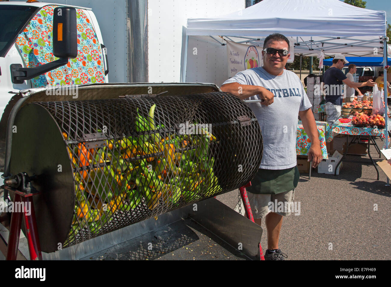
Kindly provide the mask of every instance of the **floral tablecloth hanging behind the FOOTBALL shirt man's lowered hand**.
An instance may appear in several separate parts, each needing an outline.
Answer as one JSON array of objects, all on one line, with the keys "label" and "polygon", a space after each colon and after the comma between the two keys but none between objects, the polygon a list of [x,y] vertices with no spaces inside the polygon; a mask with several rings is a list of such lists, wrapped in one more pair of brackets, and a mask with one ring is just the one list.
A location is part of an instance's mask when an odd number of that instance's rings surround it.
[{"label": "floral tablecloth hanging behind the FOOTBALL shirt man's lowered hand", "polygon": [[[328,159],[326,142],[329,143],[333,139],[333,133],[328,123],[325,121],[317,121],[316,127],[319,133],[320,147],[322,150],[323,159]],[[308,150],[311,147],[311,141],[308,138],[307,133],[304,130],[301,121],[297,125],[297,138],[296,138],[296,154],[297,155],[308,155]]]}]

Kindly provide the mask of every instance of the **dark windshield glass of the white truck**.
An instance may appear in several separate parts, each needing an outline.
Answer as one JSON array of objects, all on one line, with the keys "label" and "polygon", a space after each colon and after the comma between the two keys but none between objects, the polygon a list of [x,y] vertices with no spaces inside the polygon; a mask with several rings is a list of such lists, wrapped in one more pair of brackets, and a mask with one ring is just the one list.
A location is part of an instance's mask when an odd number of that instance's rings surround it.
[{"label": "dark windshield glass of the white truck", "polygon": [[0,5],[0,57],[5,57],[37,9],[34,6]]}]

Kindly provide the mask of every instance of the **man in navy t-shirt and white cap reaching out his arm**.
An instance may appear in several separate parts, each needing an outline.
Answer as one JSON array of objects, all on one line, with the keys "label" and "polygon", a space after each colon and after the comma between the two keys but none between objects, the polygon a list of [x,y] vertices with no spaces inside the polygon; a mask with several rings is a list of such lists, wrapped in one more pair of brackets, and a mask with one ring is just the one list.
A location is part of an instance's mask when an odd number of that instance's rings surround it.
[{"label": "man in navy t-shirt and white cap reaching out his arm", "polygon": [[368,80],[362,83],[355,83],[349,80],[341,69],[344,64],[348,64],[344,55],[335,54],[333,64],[325,71],[323,75],[323,89],[326,96],[325,112],[327,115],[327,123],[331,127],[332,124],[341,116],[341,105],[343,97],[343,84],[344,82],[348,87],[358,88],[364,86],[375,86],[375,82]]}]

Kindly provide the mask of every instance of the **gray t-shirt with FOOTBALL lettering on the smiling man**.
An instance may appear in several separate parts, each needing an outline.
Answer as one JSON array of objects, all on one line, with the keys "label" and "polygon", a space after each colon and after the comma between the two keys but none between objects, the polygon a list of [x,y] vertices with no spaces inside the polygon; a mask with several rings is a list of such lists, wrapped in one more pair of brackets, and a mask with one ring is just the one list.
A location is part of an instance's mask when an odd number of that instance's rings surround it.
[{"label": "gray t-shirt with FOOTBALL lettering on the smiling man", "polygon": [[[274,102],[267,107],[261,103],[248,103],[262,131],[264,154],[259,168],[287,169],[296,166],[298,113],[312,107],[299,77],[287,70],[280,76],[273,76],[258,67],[237,73],[223,85],[234,82],[262,86],[274,94]],[[248,99],[260,98],[256,95]]]}]

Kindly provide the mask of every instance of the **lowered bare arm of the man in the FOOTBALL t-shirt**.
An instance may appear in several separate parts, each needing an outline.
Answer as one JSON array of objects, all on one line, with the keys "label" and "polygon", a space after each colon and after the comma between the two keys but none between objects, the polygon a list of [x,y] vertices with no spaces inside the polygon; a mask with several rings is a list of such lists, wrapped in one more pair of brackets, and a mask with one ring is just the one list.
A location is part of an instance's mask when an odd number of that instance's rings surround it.
[{"label": "lowered bare arm of the man in the FOOTBALL t-shirt", "polygon": [[311,109],[307,109],[305,111],[300,111],[299,116],[301,119],[301,123],[303,124],[304,130],[311,141],[311,147],[308,150],[308,160],[312,160],[312,167],[316,168],[323,157],[320,148],[319,134],[316,127],[314,114],[312,113]]}]

